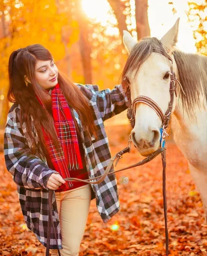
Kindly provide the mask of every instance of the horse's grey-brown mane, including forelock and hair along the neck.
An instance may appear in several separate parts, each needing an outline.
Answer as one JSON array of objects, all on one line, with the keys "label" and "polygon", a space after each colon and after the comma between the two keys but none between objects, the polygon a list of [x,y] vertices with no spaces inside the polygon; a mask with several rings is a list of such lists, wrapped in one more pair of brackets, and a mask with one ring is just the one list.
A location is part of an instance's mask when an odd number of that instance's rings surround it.
[{"label": "horse's grey-brown mane, including forelock and hair along the neck", "polygon": [[[155,37],[143,38],[133,47],[122,72],[121,83],[125,92],[128,92],[130,82],[152,52],[161,53],[168,58],[161,41]],[[173,56],[178,68],[180,83],[186,94],[185,97],[183,92],[180,92],[183,109],[189,116],[192,116],[194,107],[200,106],[201,93],[207,100],[207,57],[181,51],[174,51]]]}]

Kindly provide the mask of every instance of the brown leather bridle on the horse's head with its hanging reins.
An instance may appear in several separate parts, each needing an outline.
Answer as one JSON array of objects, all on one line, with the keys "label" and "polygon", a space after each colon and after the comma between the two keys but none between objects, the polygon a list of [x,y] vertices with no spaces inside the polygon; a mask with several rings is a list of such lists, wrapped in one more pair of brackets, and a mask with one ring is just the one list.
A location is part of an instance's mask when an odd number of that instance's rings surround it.
[{"label": "brown leather bridle on the horse's head with its hanging reins", "polygon": [[[153,48],[153,51],[154,50],[155,49]],[[162,54],[163,56],[167,57],[171,62],[173,62],[171,57],[165,51],[160,50],[159,53]],[[130,102],[130,107],[128,108],[127,116],[128,116],[128,119],[131,123],[132,128],[134,128],[134,126],[135,126],[135,105],[139,102],[142,102],[142,103],[147,104],[148,106],[150,106],[152,109],[154,109],[154,111],[160,117],[160,119],[162,121],[162,132],[161,132],[161,146],[158,150],[156,150],[154,153],[152,153],[151,155],[149,155],[145,159],[141,160],[137,164],[133,164],[129,167],[125,167],[123,169],[110,172],[111,167],[113,166],[113,162],[116,159],[117,159],[117,161],[116,161],[115,166],[117,165],[119,159],[121,159],[122,156],[125,153],[130,153],[132,140],[129,139],[128,147],[125,147],[123,150],[120,150],[118,153],[116,153],[116,155],[114,157],[111,158],[106,170],[104,171],[104,173],[102,175],[97,176],[97,177],[92,178],[92,179],[87,179],[87,180],[82,180],[82,179],[77,179],[77,178],[64,179],[65,181],[84,181],[85,183],[88,183],[88,184],[99,184],[106,178],[107,175],[109,176],[109,175],[114,174],[114,173],[119,172],[119,171],[127,170],[127,169],[130,169],[130,168],[133,168],[133,167],[137,167],[137,166],[141,166],[143,164],[146,164],[147,162],[151,161],[152,159],[154,159],[157,155],[159,155],[161,153],[162,164],[163,164],[163,201],[164,201],[165,237],[166,237],[166,256],[168,256],[168,227],[167,227],[167,203],[166,203],[166,144],[163,143],[163,142],[165,142],[165,138],[166,138],[166,136],[168,136],[168,134],[166,133],[166,128],[168,127],[168,124],[169,124],[169,121],[170,121],[170,116],[171,116],[173,101],[174,101],[174,93],[177,96],[176,89],[177,89],[178,80],[175,77],[175,73],[173,72],[172,66],[171,66],[170,79],[171,79],[170,88],[169,88],[170,101],[168,103],[168,109],[166,110],[165,114],[163,113],[161,108],[156,104],[156,102],[154,102],[149,97],[138,96],[131,102],[130,92],[127,92],[128,99],[129,99],[129,102]],[[181,86],[180,83],[179,83],[179,85]],[[130,90],[130,87],[128,89]],[[183,91],[182,86],[181,86],[181,90]],[[164,146],[164,144],[165,144],[165,146]],[[94,181],[95,179],[99,179],[99,180]],[[53,232],[54,232],[54,236],[55,236],[55,240],[56,240],[56,244],[57,244],[57,248],[58,248],[58,241],[57,241],[57,237],[56,237],[56,234],[55,234],[55,227],[54,227],[54,223],[53,223],[53,205],[52,205],[53,192],[54,192],[53,190],[49,189],[49,205],[48,205],[48,207],[49,207],[49,217],[48,217],[48,232],[47,232],[48,239],[47,239],[47,246],[46,246],[46,256],[49,256],[51,224],[52,224],[52,227],[53,227]],[[61,256],[59,248],[58,248],[58,255]]]}]

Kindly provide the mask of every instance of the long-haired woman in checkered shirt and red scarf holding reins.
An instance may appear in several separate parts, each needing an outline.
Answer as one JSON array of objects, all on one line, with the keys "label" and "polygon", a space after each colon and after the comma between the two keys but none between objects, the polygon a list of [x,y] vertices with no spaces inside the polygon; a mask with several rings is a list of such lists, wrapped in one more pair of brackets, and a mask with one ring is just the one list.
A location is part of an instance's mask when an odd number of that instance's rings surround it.
[{"label": "long-haired woman in checkered shirt and red scarf holding reins", "polygon": [[[27,227],[46,246],[48,189],[53,193],[53,222],[62,256],[77,256],[90,201],[104,223],[120,206],[116,176],[101,184],[66,182],[94,178],[111,158],[103,121],[127,108],[121,86],[99,91],[97,85],[74,85],[58,72],[51,53],[39,44],[14,51],[9,59],[4,153],[17,184]],[[111,170],[112,171],[112,170]],[[51,255],[58,255],[51,229]]]}]

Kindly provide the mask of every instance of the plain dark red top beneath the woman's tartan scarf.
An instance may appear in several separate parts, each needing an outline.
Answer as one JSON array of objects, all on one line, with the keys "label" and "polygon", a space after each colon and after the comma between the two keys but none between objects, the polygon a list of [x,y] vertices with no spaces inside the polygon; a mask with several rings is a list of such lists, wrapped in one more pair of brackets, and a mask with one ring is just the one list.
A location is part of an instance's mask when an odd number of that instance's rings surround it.
[{"label": "plain dark red top beneath the woman's tartan scarf", "polygon": [[[84,158],[84,155],[85,155],[84,154],[84,148],[82,147],[81,138],[79,137],[78,134],[77,134],[77,138],[78,138],[78,145],[79,145],[79,150],[80,150],[80,154],[81,154],[83,169],[70,170],[70,177],[71,178],[77,178],[77,179],[89,179],[88,172],[87,172],[87,167],[86,167],[86,162],[85,162],[85,158]],[[47,159],[48,167],[55,170],[49,155],[46,156],[46,159]],[[55,170],[55,171],[58,171],[58,170]],[[66,182],[68,182],[68,181],[66,181]],[[62,184],[58,189],[55,190],[55,192],[68,191],[68,190],[71,190],[71,189],[74,189],[74,188],[84,186],[87,183],[82,182],[82,181],[72,181],[72,184],[73,184],[73,186],[70,187],[70,188],[66,188],[65,184]]]}]

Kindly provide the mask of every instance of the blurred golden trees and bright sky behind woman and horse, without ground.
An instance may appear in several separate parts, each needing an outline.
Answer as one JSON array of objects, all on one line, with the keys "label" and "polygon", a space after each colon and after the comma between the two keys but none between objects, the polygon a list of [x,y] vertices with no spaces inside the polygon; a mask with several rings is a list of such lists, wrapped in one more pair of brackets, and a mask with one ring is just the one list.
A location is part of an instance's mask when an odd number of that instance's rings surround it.
[{"label": "blurred golden trees and bright sky behind woman and horse, without ground", "polygon": [[[150,34],[156,36],[157,30],[153,27],[156,20],[162,21],[160,29],[163,27],[166,32],[177,17],[182,20],[185,15],[184,25],[186,27],[188,23],[188,27],[192,28],[195,51],[207,55],[207,0],[160,0],[159,5],[155,2],[0,0],[1,138],[11,106],[7,101],[7,65],[10,54],[18,48],[40,43],[51,51],[59,70],[73,82],[97,84],[100,89],[113,88],[119,82],[127,59],[122,43],[123,30],[130,31],[140,40]],[[179,10],[184,2],[187,7],[181,13]],[[173,19],[169,17],[169,12]],[[183,31],[180,31],[181,36],[185,34]],[[182,37],[181,41],[185,42],[183,49],[186,49],[189,40]]]}]

